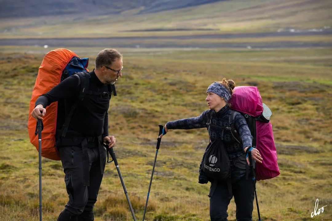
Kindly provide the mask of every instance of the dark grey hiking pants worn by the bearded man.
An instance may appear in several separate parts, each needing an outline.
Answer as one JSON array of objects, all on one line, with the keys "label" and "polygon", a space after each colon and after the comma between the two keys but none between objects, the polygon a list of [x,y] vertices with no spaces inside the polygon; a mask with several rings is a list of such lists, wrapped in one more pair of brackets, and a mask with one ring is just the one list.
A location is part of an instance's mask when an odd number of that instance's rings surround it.
[{"label": "dark grey hiking pants worn by the bearded man", "polygon": [[[106,164],[106,150],[98,139],[88,140],[89,186],[84,185],[83,148],[79,146],[59,147],[64,181],[68,193],[68,203],[57,221],[93,221],[93,207],[97,201],[100,184]],[[102,159],[102,161],[100,161]]]}]

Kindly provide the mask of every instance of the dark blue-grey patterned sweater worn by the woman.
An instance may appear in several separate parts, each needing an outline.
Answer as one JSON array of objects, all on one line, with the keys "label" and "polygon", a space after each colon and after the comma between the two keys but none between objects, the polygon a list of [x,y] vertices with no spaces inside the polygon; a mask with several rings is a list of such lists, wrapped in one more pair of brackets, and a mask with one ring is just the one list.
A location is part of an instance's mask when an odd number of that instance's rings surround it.
[{"label": "dark blue-grey patterned sweater worn by the woman", "polygon": [[[207,128],[207,112],[209,110],[204,111],[198,117],[180,119],[176,121],[167,122],[167,129],[196,129],[196,128]],[[229,127],[229,115],[231,113],[231,109],[226,105],[221,108],[218,112],[212,111],[211,114],[211,124],[215,124],[221,127]],[[252,145],[252,139],[250,130],[246,123],[246,120],[241,114],[237,114],[234,119],[234,123],[236,128],[239,131],[240,137],[242,139],[242,144],[237,142],[230,130],[224,131],[224,144],[228,153],[229,159],[234,159],[244,154],[243,149],[246,146]],[[221,138],[222,129],[216,127],[210,127],[210,139],[213,142],[217,138]]]}]

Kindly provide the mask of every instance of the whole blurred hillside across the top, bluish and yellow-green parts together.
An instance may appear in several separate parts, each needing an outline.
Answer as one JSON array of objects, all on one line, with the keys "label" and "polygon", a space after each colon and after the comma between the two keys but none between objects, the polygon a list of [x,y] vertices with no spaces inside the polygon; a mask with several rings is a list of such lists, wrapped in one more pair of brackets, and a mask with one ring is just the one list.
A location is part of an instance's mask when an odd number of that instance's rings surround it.
[{"label": "whole blurred hillside across the top, bluish and yellow-green parts together", "polygon": [[0,38],[325,32],[331,11],[330,0],[2,0]]}]

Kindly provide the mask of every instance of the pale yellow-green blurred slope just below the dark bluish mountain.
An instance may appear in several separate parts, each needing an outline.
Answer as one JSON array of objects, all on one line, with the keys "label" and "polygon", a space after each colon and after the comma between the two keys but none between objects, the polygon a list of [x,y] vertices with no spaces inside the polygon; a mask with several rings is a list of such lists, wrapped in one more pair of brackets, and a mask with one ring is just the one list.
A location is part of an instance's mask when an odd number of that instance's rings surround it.
[{"label": "pale yellow-green blurred slope just below the dark bluish mountain", "polygon": [[10,18],[2,19],[0,38],[164,36],[275,32],[283,28],[320,29],[332,26],[331,9],[329,0],[232,0],[138,15],[137,10],[132,10],[119,15],[81,13]]}]

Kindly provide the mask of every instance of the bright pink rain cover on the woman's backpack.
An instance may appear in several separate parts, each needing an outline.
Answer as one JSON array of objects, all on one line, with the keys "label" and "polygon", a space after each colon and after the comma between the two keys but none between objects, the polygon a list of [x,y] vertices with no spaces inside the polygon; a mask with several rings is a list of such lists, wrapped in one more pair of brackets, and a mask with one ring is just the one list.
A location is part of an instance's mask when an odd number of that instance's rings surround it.
[{"label": "bright pink rain cover on the woman's backpack", "polygon": [[[263,113],[262,97],[257,87],[237,86],[230,99],[232,109],[258,117]],[[256,180],[271,179],[280,174],[277,163],[277,150],[274,143],[272,124],[256,121],[256,148],[263,162],[256,163]]]}]

